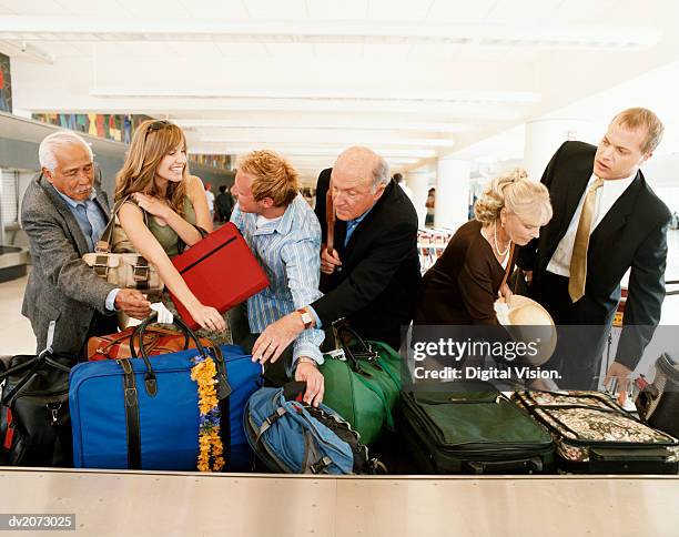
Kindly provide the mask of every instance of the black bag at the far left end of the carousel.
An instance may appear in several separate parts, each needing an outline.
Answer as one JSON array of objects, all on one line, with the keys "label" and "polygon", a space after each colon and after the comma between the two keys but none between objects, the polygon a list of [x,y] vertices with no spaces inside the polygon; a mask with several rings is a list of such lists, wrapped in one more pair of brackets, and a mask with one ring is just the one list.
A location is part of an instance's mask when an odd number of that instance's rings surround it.
[{"label": "black bag at the far left end of the carousel", "polygon": [[72,355],[18,355],[0,373],[0,464],[71,467]]}]

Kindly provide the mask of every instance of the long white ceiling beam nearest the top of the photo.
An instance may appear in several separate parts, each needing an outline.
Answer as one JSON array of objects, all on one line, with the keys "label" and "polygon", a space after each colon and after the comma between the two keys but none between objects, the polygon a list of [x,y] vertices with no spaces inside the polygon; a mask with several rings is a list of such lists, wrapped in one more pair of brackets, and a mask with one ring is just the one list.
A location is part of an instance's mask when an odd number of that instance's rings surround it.
[{"label": "long white ceiling beam nearest the top of the photo", "polygon": [[656,28],[605,24],[450,24],[376,21],[230,19],[0,18],[0,39],[26,41],[209,41],[452,44],[546,49],[635,50],[656,44]]}]

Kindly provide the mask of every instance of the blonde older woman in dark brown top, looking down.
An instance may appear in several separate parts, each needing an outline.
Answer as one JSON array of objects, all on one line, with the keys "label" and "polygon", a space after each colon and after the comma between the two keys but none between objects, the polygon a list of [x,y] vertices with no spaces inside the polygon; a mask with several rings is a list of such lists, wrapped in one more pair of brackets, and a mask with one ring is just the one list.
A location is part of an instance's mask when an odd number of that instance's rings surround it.
[{"label": "blonde older woman in dark brown top, looking down", "polygon": [[494,303],[511,293],[503,283],[518,252],[551,219],[545,185],[521,169],[496,178],[477,200],[475,219],[459,227],[443,255],[424,275],[415,324],[498,325]]}]

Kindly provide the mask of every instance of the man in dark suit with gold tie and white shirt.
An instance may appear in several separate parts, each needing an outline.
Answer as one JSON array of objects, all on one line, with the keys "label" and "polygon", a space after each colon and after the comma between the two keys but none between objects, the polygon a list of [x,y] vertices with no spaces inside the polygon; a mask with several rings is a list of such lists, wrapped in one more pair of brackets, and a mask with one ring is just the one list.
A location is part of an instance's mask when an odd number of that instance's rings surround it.
[{"label": "man in dark suit with gold tie and white shirt", "polygon": [[544,366],[561,371],[560,387],[596,387],[628,270],[622,334],[605,385],[614,377],[629,384],[660,321],[670,212],[639,166],[652,155],[662,130],[650,110],[626,110],[614,118],[598,148],[566,142],[543,175],[554,217],[523,249],[519,265],[531,278],[530,294],[555,323],[580,327],[559,338]]}]

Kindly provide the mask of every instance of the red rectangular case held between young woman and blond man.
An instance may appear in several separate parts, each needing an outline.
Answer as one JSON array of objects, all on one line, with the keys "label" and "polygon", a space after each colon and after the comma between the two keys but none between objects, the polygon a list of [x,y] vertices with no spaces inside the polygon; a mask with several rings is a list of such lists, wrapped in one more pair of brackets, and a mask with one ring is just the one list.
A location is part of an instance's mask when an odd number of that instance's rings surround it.
[{"label": "red rectangular case held between young woman and blond man", "polygon": [[[268,278],[237,227],[229,222],[183,254],[172,264],[195,297],[224,313],[268,286]],[[176,311],[190,328],[199,327],[184,305],[172,295]]]}]

